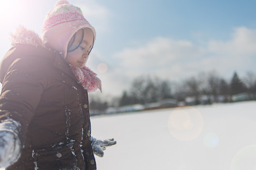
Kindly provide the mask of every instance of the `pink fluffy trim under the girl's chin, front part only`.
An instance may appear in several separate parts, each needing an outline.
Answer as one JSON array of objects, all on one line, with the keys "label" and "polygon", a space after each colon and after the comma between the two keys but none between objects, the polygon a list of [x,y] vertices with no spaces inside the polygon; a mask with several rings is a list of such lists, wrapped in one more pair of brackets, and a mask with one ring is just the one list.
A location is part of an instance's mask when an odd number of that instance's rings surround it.
[{"label": "pink fluffy trim under the girl's chin, front part only", "polygon": [[78,82],[88,91],[94,92],[99,89],[101,91],[101,80],[97,77],[97,74],[91,69],[84,66],[83,68],[78,68],[69,65],[72,72],[76,76]]}]

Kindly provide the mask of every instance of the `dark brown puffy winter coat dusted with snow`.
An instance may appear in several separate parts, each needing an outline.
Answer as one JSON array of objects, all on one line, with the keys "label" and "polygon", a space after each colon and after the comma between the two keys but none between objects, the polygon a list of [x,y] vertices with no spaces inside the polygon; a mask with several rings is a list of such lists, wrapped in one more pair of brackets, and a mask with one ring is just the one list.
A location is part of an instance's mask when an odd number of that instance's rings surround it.
[{"label": "dark brown puffy winter coat dusted with snow", "polygon": [[95,170],[87,91],[55,51],[18,44],[1,60],[0,121],[21,124],[7,170]]}]

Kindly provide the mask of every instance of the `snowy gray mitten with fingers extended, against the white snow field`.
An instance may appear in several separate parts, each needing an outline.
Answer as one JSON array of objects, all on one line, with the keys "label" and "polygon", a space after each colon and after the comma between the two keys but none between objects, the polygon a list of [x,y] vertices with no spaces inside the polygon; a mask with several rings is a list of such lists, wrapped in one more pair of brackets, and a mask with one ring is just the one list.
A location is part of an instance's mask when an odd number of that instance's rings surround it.
[{"label": "snowy gray mitten with fingers extended, against the white snow field", "polygon": [[104,156],[104,150],[106,150],[107,146],[112,146],[113,144],[116,144],[116,141],[114,139],[107,139],[107,140],[98,140],[94,138],[93,136],[91,137],[91,142],[92,142],[92,148],[95,153],[95,155],[99,157]]}]

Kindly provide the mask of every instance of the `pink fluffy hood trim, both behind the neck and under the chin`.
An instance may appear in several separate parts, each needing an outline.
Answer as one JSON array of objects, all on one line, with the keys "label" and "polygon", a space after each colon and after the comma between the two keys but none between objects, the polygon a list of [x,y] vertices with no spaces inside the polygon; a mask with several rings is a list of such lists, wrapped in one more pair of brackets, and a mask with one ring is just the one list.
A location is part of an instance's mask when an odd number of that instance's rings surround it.
[{"label": "pink fluffy hood trim, both behind the neck and under the chin", "polygon": [[[11,45],[16,44],[33,45],[48,49],[42,42],[40,36],[32,30],[19,26],[14,34],[11,34]],[[51,50],[51,49],[48,49]],[[101,80],[97,74],[86,66],[78,68],[70,65],[70,68],[76,76],[78,82],[88,91],[94,92],[99,89],[101,91]]]}]

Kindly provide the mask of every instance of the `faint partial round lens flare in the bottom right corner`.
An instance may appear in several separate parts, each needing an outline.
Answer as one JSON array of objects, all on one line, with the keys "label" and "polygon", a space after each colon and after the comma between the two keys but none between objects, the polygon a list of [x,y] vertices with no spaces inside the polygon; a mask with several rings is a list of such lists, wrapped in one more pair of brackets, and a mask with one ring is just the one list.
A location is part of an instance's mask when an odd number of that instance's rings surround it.
[{"label": "faint partial round lens flare in the bottom right corner", "polygon": [[231,162],[231,170],[256,170],[256,145],[242,148]]}]

